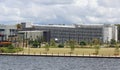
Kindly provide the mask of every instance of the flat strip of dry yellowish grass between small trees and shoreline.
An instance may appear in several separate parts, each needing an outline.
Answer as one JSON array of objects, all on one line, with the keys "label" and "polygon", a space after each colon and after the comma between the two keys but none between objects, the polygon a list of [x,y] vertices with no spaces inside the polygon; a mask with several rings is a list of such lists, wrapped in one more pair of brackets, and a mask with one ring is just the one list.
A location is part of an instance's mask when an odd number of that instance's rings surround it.
[{"label": "flat strip of dry yellowish grass between small trees and shoreline", "polygon": [[[115,48],[100,48],[99,55],[103,56],[114,56]],[[29,53],[29,54],[45,54],[45,48],[24,48],[22,52],[19,53]],[[50,48],[47,52],[48,54],[70,54],[70,48]],[[73,54],[77,55],[93,55],[95,52],[94,48],[75,48]]]}]

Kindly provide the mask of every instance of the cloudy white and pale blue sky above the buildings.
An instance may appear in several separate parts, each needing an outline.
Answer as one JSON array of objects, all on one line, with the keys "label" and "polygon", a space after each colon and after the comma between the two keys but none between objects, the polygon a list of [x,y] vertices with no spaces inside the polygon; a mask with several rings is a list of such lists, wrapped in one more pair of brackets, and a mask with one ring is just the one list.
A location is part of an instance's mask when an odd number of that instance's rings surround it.
[{"label": "cloudy white and pale blue sky above the buildings", "polygon": [[0,24],[119,24],[120,0],[0,0]]}]

